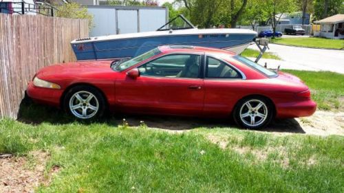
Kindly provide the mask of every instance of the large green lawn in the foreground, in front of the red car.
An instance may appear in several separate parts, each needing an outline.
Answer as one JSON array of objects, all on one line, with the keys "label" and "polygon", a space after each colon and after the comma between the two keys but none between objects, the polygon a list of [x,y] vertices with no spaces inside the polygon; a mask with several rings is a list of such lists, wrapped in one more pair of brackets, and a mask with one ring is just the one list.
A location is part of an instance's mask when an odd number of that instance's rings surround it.
[{"label": "large green lawn in the foreground, in front of the red car", "polygon": [[[55,118],[35,125],[0,120],[0,152],[45,150],[45,170],[61,167],[37,192],[343,192],[343,137],[230,128],[171,134],[112,119]],[[209,136],[228,144],[219,148]]]}]

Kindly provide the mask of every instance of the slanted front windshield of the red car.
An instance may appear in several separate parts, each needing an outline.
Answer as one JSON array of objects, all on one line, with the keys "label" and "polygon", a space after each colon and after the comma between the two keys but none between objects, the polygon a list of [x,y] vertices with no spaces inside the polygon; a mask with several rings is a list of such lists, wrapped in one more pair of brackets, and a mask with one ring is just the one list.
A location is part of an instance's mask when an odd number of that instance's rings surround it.
[{"label": "slanted front windshield of the red car", "polygon": [[122,63],[118,63],[112,67],[114,71],[123,71],[125,69],[128,69],[129,67],[132,67],[133,65],[137,65],[138,63],[141,63],[143,60],[147,60],[148,58],[151,58],[152,56],[160,54],[160,50],[158,48],[152,49],[149,52],[146,52],[136,58],[132,58],[131,60],[125,60]]}]

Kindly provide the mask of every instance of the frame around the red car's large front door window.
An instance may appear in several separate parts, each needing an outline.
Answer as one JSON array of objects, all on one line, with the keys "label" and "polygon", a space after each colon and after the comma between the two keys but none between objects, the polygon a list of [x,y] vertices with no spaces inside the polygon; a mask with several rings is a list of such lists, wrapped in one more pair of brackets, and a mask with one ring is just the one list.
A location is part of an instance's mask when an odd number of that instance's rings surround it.
[{"label": "frame around the red car's large front door window", "polygon": [[173,56],[173,55],[197,55],[197,56],[200,56],[200,67],[198,68],[198,77],[197,78],[184,78],[184,77],[166,77],[166,76],[148,76],[148,75],[142,75],[140,73],[140,76],[143,76],[143,77],[151,77],[151,78],[178,78],[178,79],[187,79],[187,80],[190,80],[190,79],[202,79],[204,78],[204,70],[203,70],[203,66],[204,66],[204,61],[203,61],[203,57],[204,57],[204,54],[200,54],[200,53],[197,53],[197,52],[174,52],[174,53],[169,53],[169,54],[164,54],[164,55],[161,55],[161,56],[158,56],[157,58],[153,58],[152,60],[149,60],[147,61],[146,63],[143,63],[141,65],[138,65],[134,68],[136,69],[139,69],[140,67],[142,67],[143,65],[147,65],[149,63],[152,63],[154,62],[155,60],[158,60],[160,58],[163,58],[165,56]]}]

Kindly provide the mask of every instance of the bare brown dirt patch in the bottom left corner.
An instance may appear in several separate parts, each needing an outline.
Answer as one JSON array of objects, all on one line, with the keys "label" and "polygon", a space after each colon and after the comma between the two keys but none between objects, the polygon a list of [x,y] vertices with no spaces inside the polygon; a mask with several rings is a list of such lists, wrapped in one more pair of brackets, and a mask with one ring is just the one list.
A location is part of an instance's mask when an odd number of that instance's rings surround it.
[{"label": "bare brown dirt patch in the bottom left corner", "polygon": [[0,192],[34,192],[41,183],[49,183],[44,177],[47,152],[30,152],[27,157],[0,159]]}]

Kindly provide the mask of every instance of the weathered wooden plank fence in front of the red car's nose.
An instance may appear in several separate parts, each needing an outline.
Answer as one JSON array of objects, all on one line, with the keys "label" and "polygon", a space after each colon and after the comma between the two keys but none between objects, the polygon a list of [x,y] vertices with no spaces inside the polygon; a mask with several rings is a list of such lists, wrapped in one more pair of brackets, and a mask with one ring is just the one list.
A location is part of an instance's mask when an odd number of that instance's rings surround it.
[{"label": "weathered wooden plank fence in front of the red car's nose", "polygon": [[87,36],[85,19],[0,14],[0,118],[17,118],[34,73],[76,60],[70,42]]}]

